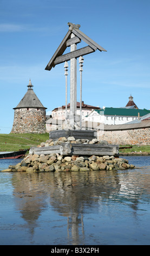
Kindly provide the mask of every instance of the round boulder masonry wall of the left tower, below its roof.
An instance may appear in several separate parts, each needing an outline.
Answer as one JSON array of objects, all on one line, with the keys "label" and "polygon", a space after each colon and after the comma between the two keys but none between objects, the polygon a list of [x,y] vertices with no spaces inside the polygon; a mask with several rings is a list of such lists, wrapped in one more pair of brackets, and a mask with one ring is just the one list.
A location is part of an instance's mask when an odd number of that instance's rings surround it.
[{"label": "round boulder masonry wall of the left tower, below its roof", "polygon": [[45,109],[15,109],[11,133],[45,133]]}]

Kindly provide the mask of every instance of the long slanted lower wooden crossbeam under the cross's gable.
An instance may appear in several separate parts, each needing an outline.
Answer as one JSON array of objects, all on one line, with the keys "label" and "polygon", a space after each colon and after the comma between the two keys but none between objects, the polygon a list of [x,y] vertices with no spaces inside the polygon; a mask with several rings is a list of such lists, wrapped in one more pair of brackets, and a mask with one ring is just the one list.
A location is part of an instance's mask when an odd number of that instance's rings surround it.
[{"label": "long slanted lower wooden crossbeam under the cross's gable", "polygon": [[80,57],[80,56],[84,56],[84,55],[92,53],[92,52],[94,52],[94,50],[90,46],[86,46],[86,47],[83,47],[79,50],[69,52],[69,53],[64,54],[62,56],[58,56],[55,59],[54,64],[57,65],[57,64],[66,62],[70,59],[77,58],[77,57]]}]

